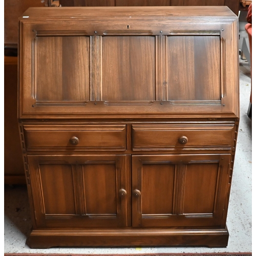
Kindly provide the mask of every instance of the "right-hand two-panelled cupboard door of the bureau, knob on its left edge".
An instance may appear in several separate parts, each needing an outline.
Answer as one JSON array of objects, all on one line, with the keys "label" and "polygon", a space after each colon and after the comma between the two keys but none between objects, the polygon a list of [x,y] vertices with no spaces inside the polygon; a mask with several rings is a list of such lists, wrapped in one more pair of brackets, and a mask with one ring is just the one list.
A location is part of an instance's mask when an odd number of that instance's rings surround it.
[{"label": "right-hand two-panelled cupboard door of the bureau, knob on its left edge", "polygon": [[133,156],[133,227],[220,227],[229,160],[229,154]]}]

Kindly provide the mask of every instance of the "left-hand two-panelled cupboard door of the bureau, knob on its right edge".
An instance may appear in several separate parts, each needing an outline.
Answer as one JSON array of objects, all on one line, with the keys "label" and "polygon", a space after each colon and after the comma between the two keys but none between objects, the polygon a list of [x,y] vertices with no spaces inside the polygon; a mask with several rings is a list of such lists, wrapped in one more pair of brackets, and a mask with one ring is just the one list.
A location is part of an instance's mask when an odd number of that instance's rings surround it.
[{"label": "left-hand two-panelled cupboard door of the bureau, knob on its right edge", "polygon": [[130,157],[29,155],[28,163],[37,227],[130,225]]}]

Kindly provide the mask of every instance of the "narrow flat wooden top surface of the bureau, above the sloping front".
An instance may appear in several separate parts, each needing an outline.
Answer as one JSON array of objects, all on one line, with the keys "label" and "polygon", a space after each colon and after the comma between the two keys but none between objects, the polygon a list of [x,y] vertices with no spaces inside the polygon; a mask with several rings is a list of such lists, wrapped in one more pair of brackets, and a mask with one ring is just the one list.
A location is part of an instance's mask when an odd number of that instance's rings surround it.
[{"label": "narrow flat wooden top surface of the bureau, above the sloping front", "polygon": [[31,7],[20,19],[184,19],[237,18],[226,6]]}]

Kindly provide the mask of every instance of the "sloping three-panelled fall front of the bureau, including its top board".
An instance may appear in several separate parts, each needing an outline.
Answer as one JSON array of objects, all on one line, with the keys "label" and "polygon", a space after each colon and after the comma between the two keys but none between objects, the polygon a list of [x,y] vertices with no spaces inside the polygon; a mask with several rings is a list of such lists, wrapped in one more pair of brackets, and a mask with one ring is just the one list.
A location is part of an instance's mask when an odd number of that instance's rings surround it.
[{"label": "sloping three-panelled fall front of the bureau, including its top board", "polygon": [[237,16],[212,8],[29,9],[19,116],[238,116]]}]

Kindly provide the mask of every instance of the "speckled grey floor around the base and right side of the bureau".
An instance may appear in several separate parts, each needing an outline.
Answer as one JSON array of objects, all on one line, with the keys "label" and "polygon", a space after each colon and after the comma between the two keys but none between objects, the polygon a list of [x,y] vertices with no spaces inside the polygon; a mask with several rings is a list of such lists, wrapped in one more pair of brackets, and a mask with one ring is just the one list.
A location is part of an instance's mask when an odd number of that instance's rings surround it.
[{"label": "speckled grey floor around the base and right side of the bureau", "polygon": [[226,248],[146,247],[146,248],[50,248],[30,249],[26,237],[31,218],[25,186],[5,185],[4,252],[5,253],[218,253],[252,252],[252,121],[247,116],[250,96],[250,67],[240,59],[240,125],[227,216],[229,242]]}]

